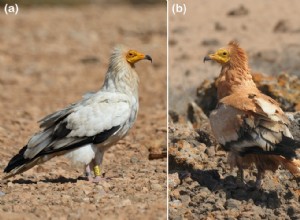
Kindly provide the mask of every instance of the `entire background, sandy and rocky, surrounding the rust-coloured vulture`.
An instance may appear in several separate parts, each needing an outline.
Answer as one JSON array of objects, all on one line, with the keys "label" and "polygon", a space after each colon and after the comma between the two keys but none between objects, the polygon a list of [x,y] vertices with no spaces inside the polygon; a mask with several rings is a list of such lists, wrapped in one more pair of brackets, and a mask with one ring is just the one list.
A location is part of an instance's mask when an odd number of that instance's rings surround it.
[{"label": "entire background, sandy and rocky, surrounding the rust-coloured vulture", "polygon": [[248,188],[234,185],[236,170],[207,119],[217,102],[213,81],[220,67],[203,64],[205,55],[238,40],[258,87],[291,112],[291,129],[300,139],[299,2],[180,2],[187,7],[184,16],[169,7],[170,219],[300,219],[299,183],[287,171],[267,173],[262,190],[253,187],[255,168],[245,174]]}]

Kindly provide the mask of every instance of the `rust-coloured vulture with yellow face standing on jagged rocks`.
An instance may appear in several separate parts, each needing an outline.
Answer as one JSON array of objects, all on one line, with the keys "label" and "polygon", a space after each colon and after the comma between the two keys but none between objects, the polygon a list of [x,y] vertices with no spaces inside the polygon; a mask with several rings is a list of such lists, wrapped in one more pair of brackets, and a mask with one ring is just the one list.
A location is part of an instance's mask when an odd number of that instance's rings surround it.
[{"label": "rust-coloured vulture with yellow face standing on jagged rocks", "polygon": [[217,80],[219,102],[210,122],[215,137],[229,151],[229,164],[239,168],[238,179],[243,181],[243,169],[252,164],[258,170],[257,187],[265,171],[276,171],[280,165],[300,177],[296,154],[300,143],[293,139],[278,103],[257,89],[245,51],[232,41],[206,60],[222,66]]}]

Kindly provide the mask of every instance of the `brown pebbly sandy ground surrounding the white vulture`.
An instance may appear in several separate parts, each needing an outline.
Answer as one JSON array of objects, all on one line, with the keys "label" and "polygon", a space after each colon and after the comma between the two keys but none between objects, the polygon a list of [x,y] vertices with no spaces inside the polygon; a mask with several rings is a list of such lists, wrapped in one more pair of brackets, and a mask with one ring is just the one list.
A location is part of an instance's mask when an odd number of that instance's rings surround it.
[{"label": "brown pebbly sandy ground surrounding the white vulture", "polygon": [[1,183],[0,219],[166,219],[166,158],[148,159],[166,149],[165,18],[163,4],[1,14],[1,169],[38,130],[36,121],[102,85],[114,45],[150,54],[153,64],[137,65],[138,120],[106,153],[108,180],[91,184],[80,178],[82,167],[54,158]]}]

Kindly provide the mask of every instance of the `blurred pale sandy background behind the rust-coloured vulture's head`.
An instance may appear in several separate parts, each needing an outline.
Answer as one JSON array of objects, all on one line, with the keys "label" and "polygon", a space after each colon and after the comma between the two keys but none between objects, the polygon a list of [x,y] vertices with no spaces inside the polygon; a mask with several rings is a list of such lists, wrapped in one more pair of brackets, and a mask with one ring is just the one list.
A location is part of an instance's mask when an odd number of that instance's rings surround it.
[{"label": "blurred pale sandy background behind the rust-coloured vulture's head", "polygon": [[[186,14],[172,14],[173,3],[185,3]],[[253,71],[300,76],[300,25],[296,0],[169,1],[169,108],[186,110],[195,89],[220,67],[203,63],[209,52],[238,40]]]}]

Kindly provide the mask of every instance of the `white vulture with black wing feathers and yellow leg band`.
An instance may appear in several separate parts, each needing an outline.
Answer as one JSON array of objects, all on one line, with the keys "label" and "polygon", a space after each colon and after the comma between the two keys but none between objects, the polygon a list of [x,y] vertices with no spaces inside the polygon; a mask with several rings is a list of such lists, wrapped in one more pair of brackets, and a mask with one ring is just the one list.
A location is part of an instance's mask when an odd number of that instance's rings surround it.
[{"label": "white vulture with black wing feathers and yellow leg band", "polygon": [[104,152],[127,134],[137,117],[139,77],[134,67],[144,59],[152,62],[149,55],[117,46],[101,89],[40,120],[41,131],[9,161],[4,179],[65,154],[85,164],[88,179],[99,182]]}]

